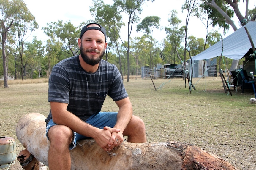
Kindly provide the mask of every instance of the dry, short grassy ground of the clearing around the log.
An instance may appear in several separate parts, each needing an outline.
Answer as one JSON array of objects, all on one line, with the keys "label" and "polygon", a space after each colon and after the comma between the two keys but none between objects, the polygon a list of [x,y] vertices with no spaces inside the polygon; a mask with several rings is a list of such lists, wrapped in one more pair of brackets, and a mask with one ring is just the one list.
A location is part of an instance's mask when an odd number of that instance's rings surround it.
[{"label": "dry, short grassy ground of the clearing around the log", "polygon": [[[150,79],[124,80],[134,114],[145,122],[148,142],[195,144],[240,170],[256,169],[256,105],[249,104],[255,98],[252,91],[242,94],[241,89],[232,88],[232,96],[226,94],[219,77],[194,78],[196,90],[191,93],[182,79],[153,81],[157,90]],[[0,136],[15,138],[18,155],[24,148],[15,135],[16,123],[30,112],[48,115],[48,83],[10,82],[9,88],[0,88],[0,94]],[[102,111],[117,110],[107,97]]]}]

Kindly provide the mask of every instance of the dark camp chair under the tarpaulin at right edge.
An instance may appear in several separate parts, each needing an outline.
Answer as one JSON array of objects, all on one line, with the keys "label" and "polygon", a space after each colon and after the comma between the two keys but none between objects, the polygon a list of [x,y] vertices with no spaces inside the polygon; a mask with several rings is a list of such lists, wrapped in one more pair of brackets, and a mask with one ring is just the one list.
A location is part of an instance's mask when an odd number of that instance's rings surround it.
[{"label": "dark camp chair under the tarpaulin at right edge", "polygon": [[236,90],[238,86],[242,88],[242,93],[244,93],[244,89],[255,89],[254,80],[247,75],[246,70],[230,70],[230,72],[233,77],[234,90]]}]

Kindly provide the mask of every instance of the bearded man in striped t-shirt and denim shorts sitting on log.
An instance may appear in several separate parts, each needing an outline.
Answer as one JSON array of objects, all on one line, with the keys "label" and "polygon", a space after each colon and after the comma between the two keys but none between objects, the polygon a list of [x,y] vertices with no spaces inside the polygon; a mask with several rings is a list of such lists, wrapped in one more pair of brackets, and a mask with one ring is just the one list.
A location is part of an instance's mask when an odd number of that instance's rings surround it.
[{"label": "bearded man in striped t-shirt and denim shorts sitting on log", "polygon": [[[146,142],[144,122],[132,115],[120,72],[102,60],[106,40],[104,27],[87,24],[78,38],[81,54],[53,67],[48,96],[51,109],[45,119],[49,169],[70,169],[69,149],[80,139],[94,138],[105,151],[120,145],[123,136],[128,136],[128,142]],[[106,95],[116,102],[118,113],[100,112]]]}]

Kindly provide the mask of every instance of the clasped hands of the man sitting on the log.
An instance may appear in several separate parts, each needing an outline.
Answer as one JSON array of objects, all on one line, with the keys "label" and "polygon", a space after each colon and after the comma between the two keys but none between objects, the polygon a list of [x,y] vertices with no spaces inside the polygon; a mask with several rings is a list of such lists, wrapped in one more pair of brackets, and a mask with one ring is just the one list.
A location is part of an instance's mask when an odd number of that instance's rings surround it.
[{"label": "clasped hands of the man sitting on the log", "polygon": [[110,151],[124,141],[120,129],[105,126],[95,138],[96,143],[105,151]]}]

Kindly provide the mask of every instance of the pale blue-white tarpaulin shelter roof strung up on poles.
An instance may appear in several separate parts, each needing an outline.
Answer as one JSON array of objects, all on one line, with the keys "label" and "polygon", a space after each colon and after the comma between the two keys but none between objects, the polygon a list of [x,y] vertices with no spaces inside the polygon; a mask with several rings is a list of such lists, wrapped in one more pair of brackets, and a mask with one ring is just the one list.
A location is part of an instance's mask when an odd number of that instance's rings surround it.
[{"label": "pale blue-white tarpaulin shelter roof strung up on poles", "polygon": [[223,53],[222,44],[221,41],[219,41],[213,46],[207,48],[205,51],[201,52],[200,54],[192,57],[192,60],[211,59],[221,56],[221,53],[223,56],[230,59],[239,60],[243,58],[247,51],[252,48],[252,45],[249,41],[248,35],[244,27],[248,29],[252,37],[252,41],[254,45],[256,45],[256,22],[250,21],[231,35],[223,38]]}]

